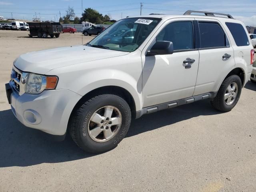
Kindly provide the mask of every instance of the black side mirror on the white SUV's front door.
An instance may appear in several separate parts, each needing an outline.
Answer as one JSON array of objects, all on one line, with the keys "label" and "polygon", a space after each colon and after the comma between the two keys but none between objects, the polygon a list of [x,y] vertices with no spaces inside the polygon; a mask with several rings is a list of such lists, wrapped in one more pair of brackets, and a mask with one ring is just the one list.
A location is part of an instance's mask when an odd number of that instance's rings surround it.
[{"label": "black side mirror on the white SUV's front door", "polygon": [[170,41],[157,41],[146,56],[173,54],[173,44]]}]

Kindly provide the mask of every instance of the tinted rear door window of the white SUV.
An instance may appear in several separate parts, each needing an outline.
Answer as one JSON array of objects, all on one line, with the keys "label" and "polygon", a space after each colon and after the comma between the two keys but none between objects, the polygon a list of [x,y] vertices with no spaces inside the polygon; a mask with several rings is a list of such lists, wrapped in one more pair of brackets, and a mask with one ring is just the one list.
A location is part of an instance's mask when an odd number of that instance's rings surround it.
[{"label": "tinted rear door window of the white SUV", "polygon": [[198,22],[200,48],[217,48],[226,46],[226,35],[220,25],[215,22]]}]

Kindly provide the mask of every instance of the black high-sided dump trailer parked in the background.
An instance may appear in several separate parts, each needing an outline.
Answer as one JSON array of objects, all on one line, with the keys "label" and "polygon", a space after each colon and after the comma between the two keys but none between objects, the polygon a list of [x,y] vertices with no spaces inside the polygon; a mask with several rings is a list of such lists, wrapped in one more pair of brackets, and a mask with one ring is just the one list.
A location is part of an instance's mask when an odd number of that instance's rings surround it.
[{"label": "black high-sided dump trailer parked in the background", "polygon": [[30,29],[30,37],[38,36],[39,38],[47,38],[54,36],[58,38],[62,32],[62,25],[59,22],[28,22]]}]

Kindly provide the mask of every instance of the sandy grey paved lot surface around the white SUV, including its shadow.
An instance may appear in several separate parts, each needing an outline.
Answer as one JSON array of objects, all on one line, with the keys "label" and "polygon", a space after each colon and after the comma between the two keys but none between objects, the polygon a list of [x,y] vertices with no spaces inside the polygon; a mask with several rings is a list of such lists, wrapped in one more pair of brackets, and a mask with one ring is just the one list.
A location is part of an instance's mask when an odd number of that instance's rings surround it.
[{"label": "sandy grey paved lot surface around the white SUV, including its shadow", "polygon": [[90,155],[69,136],[53,142],[14,118],[4,91],[13,60],[81,44],[78,33],[27,34],[0,31],[0,191],[256,191],[256,84],[246,84],[232,112],[204,100],[149,114],[132,122],[117,148]]}]

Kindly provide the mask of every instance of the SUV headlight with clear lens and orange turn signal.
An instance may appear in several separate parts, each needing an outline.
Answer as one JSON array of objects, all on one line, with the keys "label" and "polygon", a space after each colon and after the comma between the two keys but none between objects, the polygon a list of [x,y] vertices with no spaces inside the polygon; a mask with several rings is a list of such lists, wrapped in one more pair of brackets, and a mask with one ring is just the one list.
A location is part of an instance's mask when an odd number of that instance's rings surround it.
[{"label": "SUV headlight with clear lens and orange turn signal", "polygon": [[28,73],[26,76],[25,92],[30,94],[39,94],[44,90],[55,89],[58,82],[56,76],[43,76],[34,73]]}]

